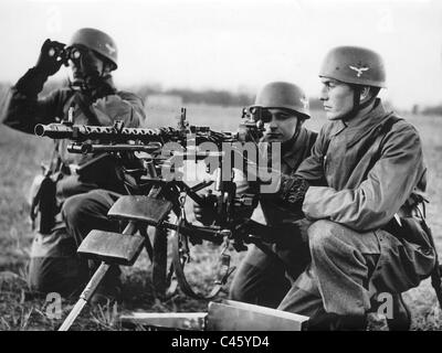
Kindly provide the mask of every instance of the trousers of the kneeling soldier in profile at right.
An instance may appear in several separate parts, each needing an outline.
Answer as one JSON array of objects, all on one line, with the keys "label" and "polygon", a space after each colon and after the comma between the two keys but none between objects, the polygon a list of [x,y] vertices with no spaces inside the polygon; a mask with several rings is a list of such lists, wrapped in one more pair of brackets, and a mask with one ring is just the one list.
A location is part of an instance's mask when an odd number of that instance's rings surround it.
[{"label": "trousers of the kneeling soldier in profile at right", "polygon": [[407,291],[434,267],[432,249],[383,229],[358,233],[322,220],[309,226],[308,245],[312,261],[277,309],[313,320],[325,314],[364,315],[376,293]]}]

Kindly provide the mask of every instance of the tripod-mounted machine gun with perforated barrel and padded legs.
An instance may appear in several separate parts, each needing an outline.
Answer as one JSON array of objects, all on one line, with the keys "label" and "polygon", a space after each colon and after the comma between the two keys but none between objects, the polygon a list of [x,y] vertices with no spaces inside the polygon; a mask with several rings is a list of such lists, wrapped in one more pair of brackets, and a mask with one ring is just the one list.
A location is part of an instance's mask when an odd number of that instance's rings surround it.
[{"label": "tripod-mounted machine gun with perforated barrel and padded legs", "polygon": [[[137,174],[137,182],[145,194],[125,195],[117,200],[108,212],[108,216],[127,223],[123,234],[103,231],[92,231],[78,247],[83,256],[102,260],[81,299],[60,330],[67,330],[82,308],[94,293],[98,284],[109,268],[109,264],[131,266],[143,247],[146,248],[152,268],[152,281],[161,295],[172,293],[176,289],[172,277],[181,290],[197,299],[211,299],[215,297],[233,271],[230,267],[228,250],[233,247],[243,250],[244,243],[254,243],[264,252],[270,249],[266,244],[276,239],[271,236],[266,226],[251,220],[235,220],[239,207],[253,206],[257,199],[253,195],[236,196],[233,175],[225,179],[220,168],[214,181],[203,181],[193,186],[188,185],[179,178],[166,179],[165,170],[170,171],[170,159],[180,157],[191,158],[224,158],[221,151],[192,150],[201,142],[213,142],[221,146],[225,142],[256,141],[262,133],[262,126],[243,111],[243,122],[240,131],[217,132],[208,127],[189,126],[186,119],[186,109],[177,128],[143,129],[126,128],[119,121],[112,127],[76,126],[67,124],[38,125],[35,133],[48,136],[52,139],[71,139],[69,151],[74,153],[134,153],[143,161],[139,170],[127,171]],[[166,145],[178,143],[180,151],[165,153]],[[221,165],[221,164],[220,164]],[[215,200],[217,222],[211,226],[191,224],[186,217],[185,203],[187,196],[196,203],[203,205],[207,200],[197,192],[211,186],[218,196]],[[210,192],[209,192],[210,194]],[[169,214],[175,214],[175,222],[169,222]],[[155,227],[154,244],[150,243],[147,227]],[[167,233],[171,231],[172,261],[167,268]],[[139,235],[137,234],[139,232]],[[215,245],[223,245],[220,257],[219,274],[215,276],[208,292],[200,292],[192,288],[186,276],[186,264],[190,260],[190,248],[193,245],[209,240]]]}]

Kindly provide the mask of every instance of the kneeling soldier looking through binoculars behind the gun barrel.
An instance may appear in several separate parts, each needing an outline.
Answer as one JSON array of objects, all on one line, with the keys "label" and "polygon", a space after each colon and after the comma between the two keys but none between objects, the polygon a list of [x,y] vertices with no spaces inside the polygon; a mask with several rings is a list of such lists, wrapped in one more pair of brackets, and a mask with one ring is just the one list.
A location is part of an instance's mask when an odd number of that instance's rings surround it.
[{"label": "kneeling soldier looking through binoculars behind the gun barrel", "polygon": [[[40,98],[48,77],[63,63],[69,63],[72,69],[70,87]],[[116,68],[116,44],[99,30],[76,31],[67,46],[46,40],[36,65],[11,88],[3,122],[27,133],[33,133],[36,124],[67,118],[74,124],[98,126],[113,125],[118,119],[126,127],[139,127],[145,120],[143,101],[135,94],[115,88],[112,72]],[[41,192],[33,202],[33,208],[40,207],[41,222],[32,244],[29,270],[31,288],[63,296],[81,289],[96,267],[96,264],[88,266],[87,261],[78,259],[76,248],[93,228],[116,231],[106,214],[125,192],[112,159],[67,153],[67,142],[63,140],[56,145],[56,158],[49,170],[52,179],[56,179],[54,205],[45,206],[51,204],[51,200],[45,200],[50,197],[51,186],[42,188],[51,185],[49,179],[40,185]],[[102,293],[115,295],[118,277],[116,267],[109,271]],[[95,298],[99,298],[99,291]]]}]

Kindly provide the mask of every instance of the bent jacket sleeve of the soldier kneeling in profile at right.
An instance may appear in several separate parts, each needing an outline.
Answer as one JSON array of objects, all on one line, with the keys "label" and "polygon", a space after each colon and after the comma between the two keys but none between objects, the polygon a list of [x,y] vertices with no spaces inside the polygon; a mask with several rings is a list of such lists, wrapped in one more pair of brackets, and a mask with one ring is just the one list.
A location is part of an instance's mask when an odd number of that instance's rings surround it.
[{"label": "bent jacket sleeve of the soldier kneeling in profile at right", "polygon": [[308,218],[327,218],[356,231],[387,224],[424,173],[421,141],[409,124],[396,124],[382,143],[381,157],[356,189],[311,186],[303,211]]}]

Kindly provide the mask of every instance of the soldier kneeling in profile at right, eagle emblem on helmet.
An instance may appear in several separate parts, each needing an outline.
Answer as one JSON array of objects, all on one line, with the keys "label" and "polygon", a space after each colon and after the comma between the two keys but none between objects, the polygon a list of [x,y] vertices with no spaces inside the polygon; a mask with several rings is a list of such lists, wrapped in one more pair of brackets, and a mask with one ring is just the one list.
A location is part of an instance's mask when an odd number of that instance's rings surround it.
[{"label": "soldier kneeling in profile at right, eagle emblem on helmet", "polygon": [[378,98],[386,74],[373,51],[335,47],[319,77],[330,121],[280,191],[312,223],[312,263],[278,309],[311,317],[312,328],[365,329],[375,295],[385,292],[394,299],[390,323],[408,329],[400,293],[435,264],[420,226],[427,169],[419,133]]}]

